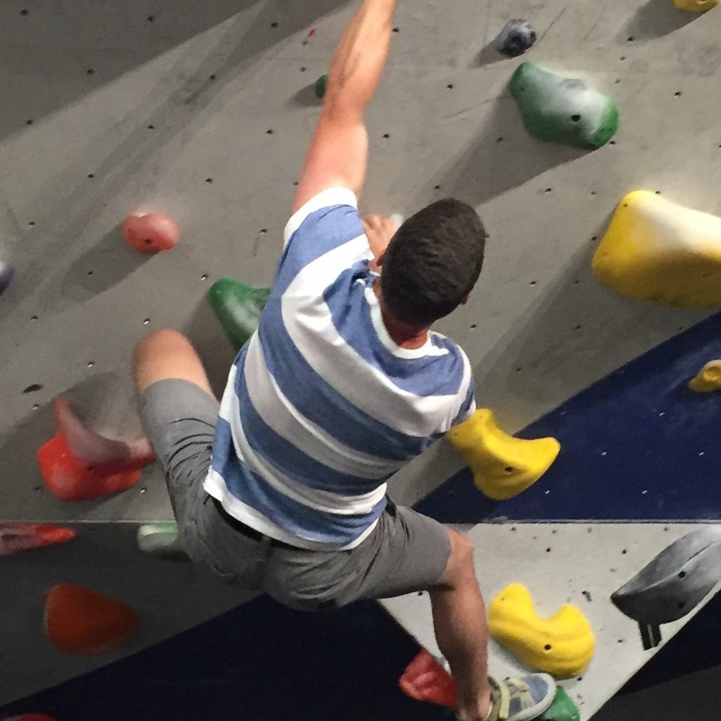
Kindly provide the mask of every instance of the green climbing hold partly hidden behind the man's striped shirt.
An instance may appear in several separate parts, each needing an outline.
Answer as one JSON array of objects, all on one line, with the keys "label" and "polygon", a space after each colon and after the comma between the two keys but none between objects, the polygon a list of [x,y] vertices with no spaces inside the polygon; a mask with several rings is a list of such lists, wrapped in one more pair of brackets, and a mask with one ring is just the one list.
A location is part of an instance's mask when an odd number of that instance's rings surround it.
[{"label": "green climbing hold partly hidden behind the man's striped shirt", "polygon": [[235,350],[240,350],[258,327],[270,288],[248,286],[234,278],[220,278],[208,289],[208,300]]}]

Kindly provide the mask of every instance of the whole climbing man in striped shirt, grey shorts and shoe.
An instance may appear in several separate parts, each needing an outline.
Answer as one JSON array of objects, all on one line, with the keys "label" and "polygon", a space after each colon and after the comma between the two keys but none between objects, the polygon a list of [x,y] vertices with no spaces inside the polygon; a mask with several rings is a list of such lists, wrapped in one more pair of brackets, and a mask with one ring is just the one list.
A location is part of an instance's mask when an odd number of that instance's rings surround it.
[{"label": "whole climbing man in striped shirt, grey shorts and shoe", "polygon": [[165,329],[134,354],[141,417],[191,558],[308,611],[428,590],[458,718],[521,721],[554,682],[488,676],[472,545],[386,496],[394,472],[474,412],[466,355],[430,326],[466,301],[486,238],[453,199],[398,229],[358,214],[363,116],[396,2],[364,0],[335,50],[273,293],[220,404],[190,342]]}]

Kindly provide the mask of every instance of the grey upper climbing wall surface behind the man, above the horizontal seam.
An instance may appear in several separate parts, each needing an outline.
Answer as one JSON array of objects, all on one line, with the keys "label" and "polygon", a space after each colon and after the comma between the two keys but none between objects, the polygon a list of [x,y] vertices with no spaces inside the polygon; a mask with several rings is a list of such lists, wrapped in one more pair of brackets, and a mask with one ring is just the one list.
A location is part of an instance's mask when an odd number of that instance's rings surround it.
[{"label": "grey upper climbing wall surface behind the man, above the horizontal seam", "polygon": [[[1,4],[0,260],[17,266],[0,298],[1,519],[171,518],[156,469],[104,500],[51,496],[35,451],[54,433],[52,399],[66,394],[109,433],[132,428],[131,349],[164,326],[190,335],[222,388],[232,353],[205,292],[223,275],[273,280],[319,110],[311,86],[354,7]],[[590,275],[590,257],[629,190],[721,212],[720,12],[684,14],[671,0],[401,0],[368,113],[361,206],[409,215],[455,195],[478,209],[490,232],[485,270],[469,304],[438,330],[464,346],[479,404],[505,430],[707,314],[615,296]],[[509,17],[539,33],[524,58],[487,47]],[[588,153],[530,138],[506,89],[523,59],[613,94],[622,112],[614,142]],[[174,217],[180,244],[136,255],[119,231],[133,211]],[[439,443],[399,474],[392,494],[415,502],[462,466]],[[77,563],[103,562],[92,544],[83,548]],[[21,563],[35,560],[18,559],[22,573]],[[22,593],[40,593],[50,579],[41,576],[30,573]],[[17,629],[35,616],[11,611],[17,602],[17,587],[5,585],[0,609],[18,614],[8,633],[22,644]],[[192,614],[180,616],[177,630],[191,623]],[[33,673],[27,668],[22,692],[71,671],[58,660],[42,678]],[[9,700],[18,691],[3,693]]]}]

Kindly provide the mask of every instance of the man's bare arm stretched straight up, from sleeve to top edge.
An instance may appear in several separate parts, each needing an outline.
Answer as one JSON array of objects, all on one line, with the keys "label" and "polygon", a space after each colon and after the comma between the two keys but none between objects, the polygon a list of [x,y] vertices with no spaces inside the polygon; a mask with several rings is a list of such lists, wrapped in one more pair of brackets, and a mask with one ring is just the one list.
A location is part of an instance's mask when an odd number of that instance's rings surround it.
[{"label": "man's bare arm stretched straight up, from sleeve to top edge", "polygon": [[364,0],[338,43],[293,212],[328,187],[361,195],[368,163],[363,115],[386,65],[397,0]]}]

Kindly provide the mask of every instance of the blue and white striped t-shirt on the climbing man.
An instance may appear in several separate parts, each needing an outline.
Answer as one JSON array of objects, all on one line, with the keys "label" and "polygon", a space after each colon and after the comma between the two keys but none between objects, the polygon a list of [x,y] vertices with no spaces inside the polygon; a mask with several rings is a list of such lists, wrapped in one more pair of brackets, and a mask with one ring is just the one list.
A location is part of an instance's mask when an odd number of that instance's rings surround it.
[{"label": "blue and white striped t-shirt on the climbing man", "polygon": [[205,490],[242,523],[307,549],[348,549],[386,506],[386,480],[475,410],[465,353],[430,332],[400,348],[344,188],[286,226],[257,331],[231,368]]}]

